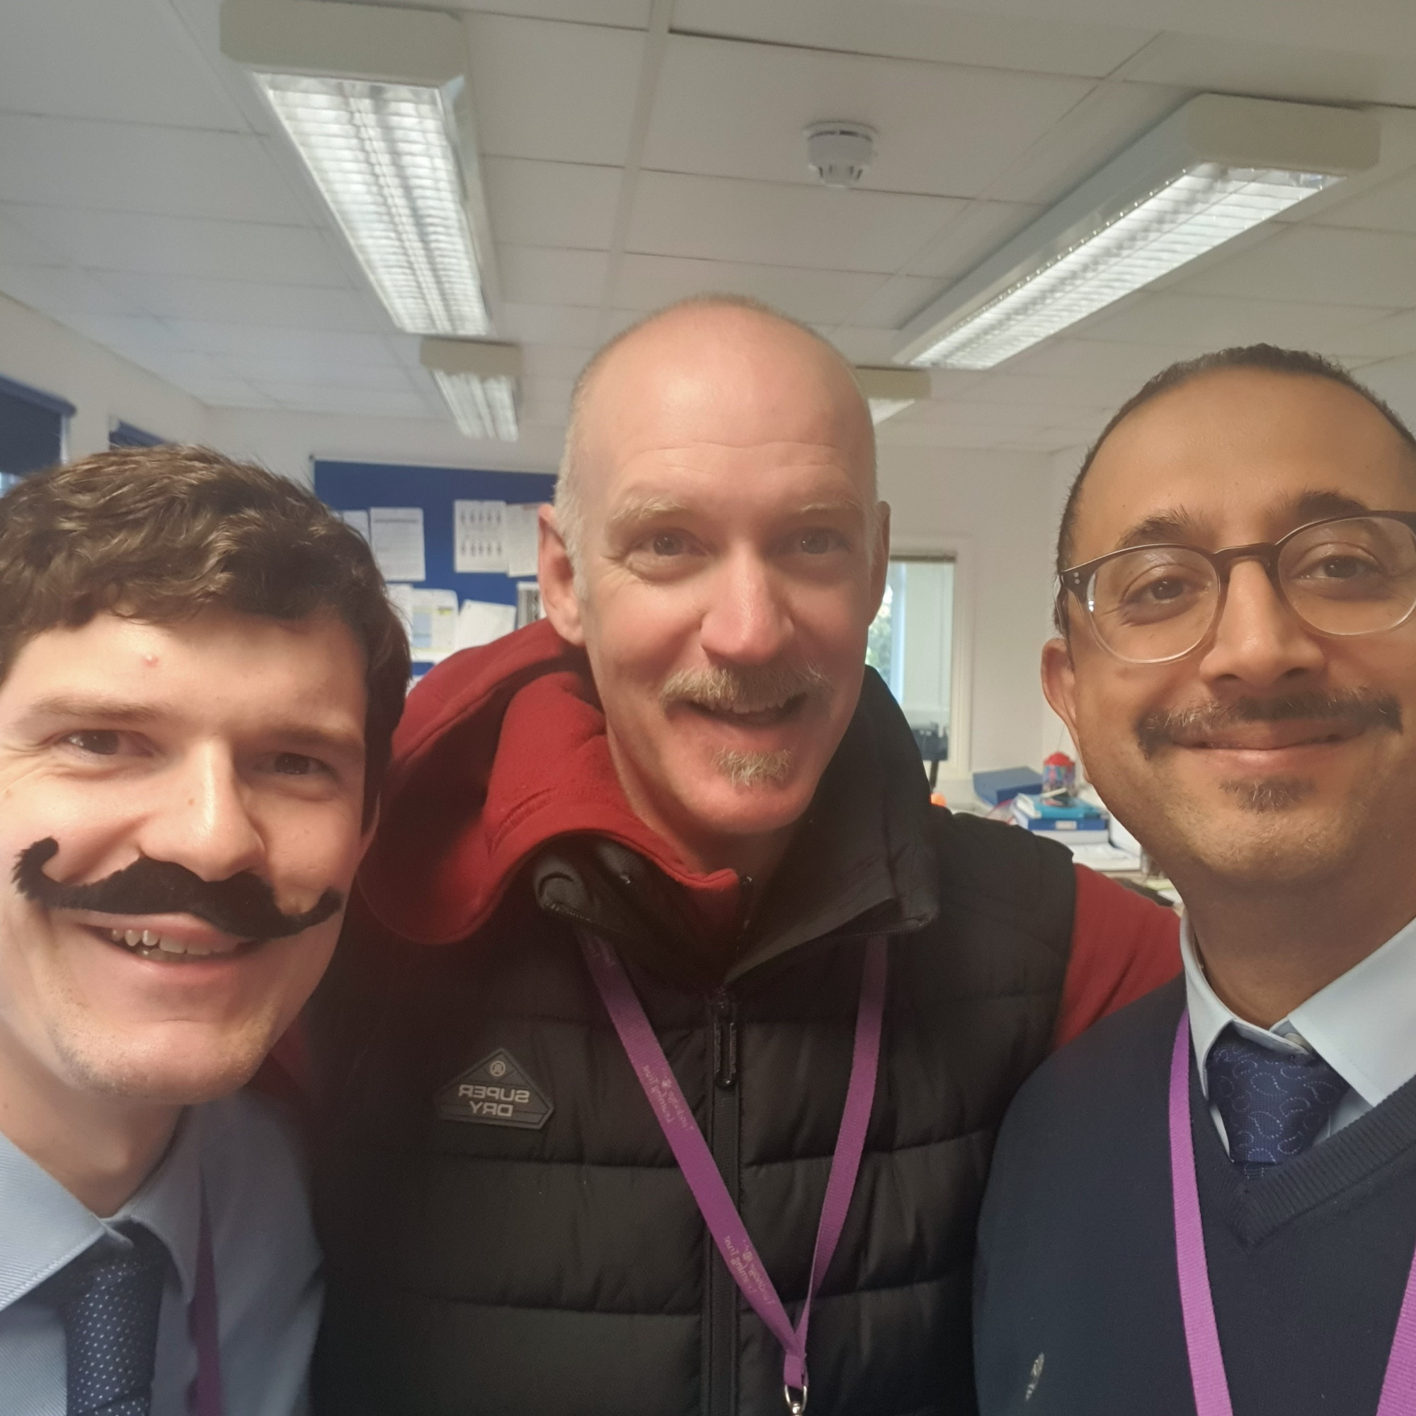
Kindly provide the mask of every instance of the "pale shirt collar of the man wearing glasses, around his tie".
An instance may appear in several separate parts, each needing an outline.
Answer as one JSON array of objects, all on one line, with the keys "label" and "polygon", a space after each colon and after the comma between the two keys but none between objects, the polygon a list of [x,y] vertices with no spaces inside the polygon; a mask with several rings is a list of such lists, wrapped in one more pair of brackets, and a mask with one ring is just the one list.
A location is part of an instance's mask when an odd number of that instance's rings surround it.
[{"label": "pale shirt collar of the man wearing glasses, around his tie", "polygon": [[[1219,1001],[1205,977],[1188,918],[1180,926],[1180,956],[1185,963],[1189,1035],[1206,1099],[1205,1062],[1231,1024],[1243,1037],[1277,1052],[1317,1052],[1347,1082],[1348,1090],[1318,1133],[1318,1141],[1351,1126],[1416,1076],[1416,920],[1272,1028],[1245,1022]],[[1229,1137],[1218,1107],[1211,1106],[1209,1114],[1228,1150]]]}]

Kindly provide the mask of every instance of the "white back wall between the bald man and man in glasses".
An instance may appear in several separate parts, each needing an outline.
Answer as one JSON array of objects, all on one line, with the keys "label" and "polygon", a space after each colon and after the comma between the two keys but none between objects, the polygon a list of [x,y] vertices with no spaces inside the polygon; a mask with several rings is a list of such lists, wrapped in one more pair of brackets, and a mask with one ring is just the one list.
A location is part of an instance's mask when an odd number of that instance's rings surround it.
[{"label": "white back wall between the bald man and man in glasses", "polygon": [[1037,453],[881,447],[881,496],[891,504],[895,549],[959,556],[956,634],[971,644],[964,670],[970,770],[1038,766],[1056,746],[1038,683],[1051,613],[1055,480],[1052,459]]}]

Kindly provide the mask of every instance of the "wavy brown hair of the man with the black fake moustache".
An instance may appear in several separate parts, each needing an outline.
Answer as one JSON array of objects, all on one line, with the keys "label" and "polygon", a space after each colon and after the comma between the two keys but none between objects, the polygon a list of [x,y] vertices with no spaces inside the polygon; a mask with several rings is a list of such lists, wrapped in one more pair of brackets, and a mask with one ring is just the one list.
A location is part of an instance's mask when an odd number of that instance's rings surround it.
[{"label": "wavy brown hair of the man with the black fake moustache", "polygon": [[337,615],[364,650],[364,817],[408,691],[404,626],[368,545],[313,493],[210,447],[95,453],[0,497],[0,683],[45,630],[105,612],[152,623],[224,607]]}]

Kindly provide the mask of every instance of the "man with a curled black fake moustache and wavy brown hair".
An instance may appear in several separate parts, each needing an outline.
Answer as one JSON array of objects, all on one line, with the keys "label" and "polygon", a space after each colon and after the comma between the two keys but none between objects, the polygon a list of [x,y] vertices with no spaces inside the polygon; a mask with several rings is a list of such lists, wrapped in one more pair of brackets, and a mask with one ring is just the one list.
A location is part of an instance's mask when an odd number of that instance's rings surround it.
[{"label": "man with a curled black fake moustache and wavy brown hair", "polygon": [[367,545],[200,447],[0,498],[0,1410],[290,1416],[319,1252],[239,1089],[329,963],[402,709]]}]

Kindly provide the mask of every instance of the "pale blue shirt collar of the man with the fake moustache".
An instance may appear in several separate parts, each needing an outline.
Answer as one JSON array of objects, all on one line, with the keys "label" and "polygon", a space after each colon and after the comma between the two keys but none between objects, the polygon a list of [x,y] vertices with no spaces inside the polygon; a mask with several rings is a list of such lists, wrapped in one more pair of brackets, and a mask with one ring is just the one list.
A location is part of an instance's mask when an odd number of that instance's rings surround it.
[{"label": "pale blue shirt collar of the man with the fake moustache", "polygon": [[[201,1117],[184,1113],[167,1154],[137,1192],[99,1219],[38,1161],[0,1133],[0,1310],[23,1298],[125,1219],[167,1246],[183,1298],[191,1301],[201,1226]],[[126,1242],[126,1240],[123,1240]]]}]

